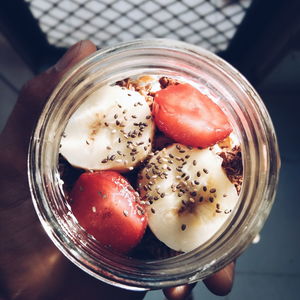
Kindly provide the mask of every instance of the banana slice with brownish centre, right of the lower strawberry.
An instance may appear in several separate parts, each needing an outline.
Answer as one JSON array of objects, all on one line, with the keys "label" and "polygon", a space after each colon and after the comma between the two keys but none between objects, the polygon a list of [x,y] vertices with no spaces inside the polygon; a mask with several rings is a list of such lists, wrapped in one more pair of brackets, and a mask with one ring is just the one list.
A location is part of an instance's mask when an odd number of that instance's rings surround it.
[{"label": "banana slice with brownish centre, right of the lower strawberry", "polygon": [[210,239],[238,202],[222,158],[209,149],[173,144],[139,175],[149,226],[171,249],[191,251]]}]

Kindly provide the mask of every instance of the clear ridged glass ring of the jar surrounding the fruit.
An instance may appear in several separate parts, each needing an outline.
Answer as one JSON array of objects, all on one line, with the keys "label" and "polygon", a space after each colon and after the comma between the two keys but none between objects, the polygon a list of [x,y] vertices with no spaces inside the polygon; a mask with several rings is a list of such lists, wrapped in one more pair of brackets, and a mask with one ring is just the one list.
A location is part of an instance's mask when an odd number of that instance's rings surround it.
[{"label": "clear ridged glass ring of the jar surrounding the fruit", "polygon": [[[199,248],[168,259],[137,260],[104,249],[76,222],[62,191],[59,144],[69,117],[99,87],[159,74],[199,85],[225,111],[241,142],[239,204]],[[262,228],[273,203],[280,159],[269,114],[257,92],[218,56],[186,43],[137,40],[95,52],[70,70],[49,98],[32,135],[28,175],[39,219],[54,244],[82,270],[112,285],[145,290],[201,280],[237,258]]]}]

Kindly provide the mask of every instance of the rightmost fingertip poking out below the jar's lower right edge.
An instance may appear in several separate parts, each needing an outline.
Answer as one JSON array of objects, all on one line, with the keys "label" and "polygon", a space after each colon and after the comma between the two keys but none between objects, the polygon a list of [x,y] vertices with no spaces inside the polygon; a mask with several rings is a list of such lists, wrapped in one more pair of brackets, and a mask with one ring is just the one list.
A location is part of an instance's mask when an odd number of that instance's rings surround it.
[{"label": "rightmost fingertip poking out below the jar's lower right edge", "polygon": [[235,262],[203,280],[206,287],[215,295],[225,296],[230,293],[234,280]]}]

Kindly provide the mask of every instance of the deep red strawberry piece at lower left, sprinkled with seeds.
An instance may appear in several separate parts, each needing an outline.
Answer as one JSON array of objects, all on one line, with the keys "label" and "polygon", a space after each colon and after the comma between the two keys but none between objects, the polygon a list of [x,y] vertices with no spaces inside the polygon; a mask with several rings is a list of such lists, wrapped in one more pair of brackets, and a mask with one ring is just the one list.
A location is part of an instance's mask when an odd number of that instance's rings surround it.
[{"label": "deep red strawberry piece at lower left, sprinkled with seeds", "polygon": [[147,226],[139,195],[114,171],[83,173],[70,193],[79,224],[103,246],[127,253],[141,240]]}]

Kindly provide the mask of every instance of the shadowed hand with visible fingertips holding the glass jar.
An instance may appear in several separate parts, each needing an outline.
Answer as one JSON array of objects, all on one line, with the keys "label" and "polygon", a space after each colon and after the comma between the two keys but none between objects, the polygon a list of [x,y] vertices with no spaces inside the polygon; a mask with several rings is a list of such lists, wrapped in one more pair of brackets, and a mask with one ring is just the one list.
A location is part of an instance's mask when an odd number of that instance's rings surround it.
[{"label": "shadowed hand with visible fingertips holding the glass jar", "polygon": [[[50,241],[33,209],[27,182],[27,151],[34,124],[62,76],[96,51],[90,41],[72,46],[52,68],[23,87],[0,143],[0,300],[143,299],[92,278]],[[230,292],[234,263],[204,280],[217,295]],[[184,299],[195,284],[168,288],[168,299]]]}]

